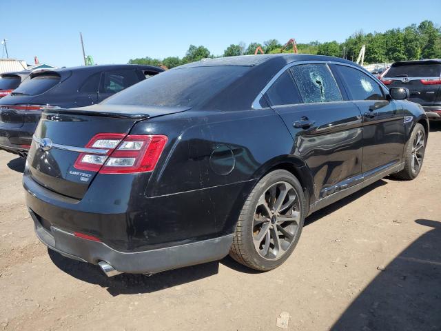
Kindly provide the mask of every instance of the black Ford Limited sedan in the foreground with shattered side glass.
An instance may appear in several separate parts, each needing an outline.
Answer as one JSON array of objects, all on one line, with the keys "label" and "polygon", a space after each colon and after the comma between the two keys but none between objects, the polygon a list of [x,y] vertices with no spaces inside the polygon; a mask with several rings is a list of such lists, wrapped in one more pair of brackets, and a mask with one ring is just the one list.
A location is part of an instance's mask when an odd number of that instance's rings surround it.
[{"label": "black Ford Limited sedan in the foreground with shattered side glass", "polygon": [[308,214],[418,176],[429,123],[408,96],[333,57],[190,63],[96,106],[44,110],[26,203],[45,245],[107,275],[228,253],[271,270]]}]

